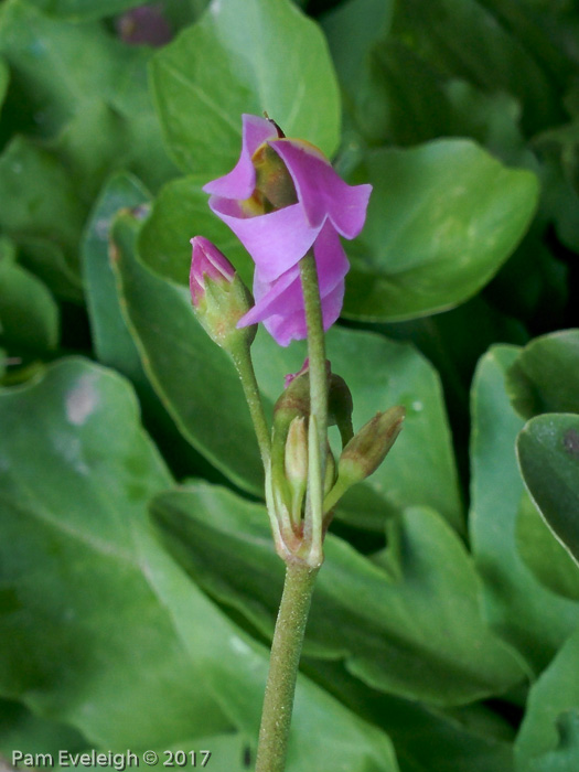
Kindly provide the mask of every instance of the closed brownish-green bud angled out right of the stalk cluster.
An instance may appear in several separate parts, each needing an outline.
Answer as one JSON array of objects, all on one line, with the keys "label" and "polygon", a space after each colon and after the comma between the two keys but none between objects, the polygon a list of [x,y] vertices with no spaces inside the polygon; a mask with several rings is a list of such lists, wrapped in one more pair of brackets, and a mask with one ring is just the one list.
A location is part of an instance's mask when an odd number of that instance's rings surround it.
[{"label": "closed brownish-green bud angled out right of the stalk cluster", "polygon": [[405,412],[400,405],[377,412],[354,435],[337,462],[342,486],[350,487],[378,469],[401,431]]}]

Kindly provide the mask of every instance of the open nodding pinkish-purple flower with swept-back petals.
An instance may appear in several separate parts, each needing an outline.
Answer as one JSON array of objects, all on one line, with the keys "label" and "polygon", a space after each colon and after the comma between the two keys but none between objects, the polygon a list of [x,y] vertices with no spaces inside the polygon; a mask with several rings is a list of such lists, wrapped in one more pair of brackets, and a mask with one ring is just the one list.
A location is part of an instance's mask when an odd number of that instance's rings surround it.
[{"label": "open nodding pinkish-purple flower with swept-back petals", "polygon": [[299,261],[313,247],[324,329],[342,309],[349,270],[340,236],[362,230],[372,185],[346,184],[318,148],[274,121],[243,116],[235,168],[205,185],[210,206],[251,255],[256,304],[239,326],[264,322],[283,346],[307,336]]}]

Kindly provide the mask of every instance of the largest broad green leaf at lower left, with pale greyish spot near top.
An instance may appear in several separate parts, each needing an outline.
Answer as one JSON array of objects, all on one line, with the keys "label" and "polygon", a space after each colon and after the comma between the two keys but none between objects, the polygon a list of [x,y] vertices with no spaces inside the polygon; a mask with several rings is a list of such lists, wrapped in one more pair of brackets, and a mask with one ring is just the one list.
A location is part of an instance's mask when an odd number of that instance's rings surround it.
[{"label": "largest broad green leaf at lower left, with pale greyish spot near top", "polygon": [[[126,382],[64,361],[0,411],[2,693],[107,750],[233,726],[255,747],[268,654],[153,539],[146,504],[171,480]],[[300,678],[288,771],[310,764],[398,769],[383,732]]]}]

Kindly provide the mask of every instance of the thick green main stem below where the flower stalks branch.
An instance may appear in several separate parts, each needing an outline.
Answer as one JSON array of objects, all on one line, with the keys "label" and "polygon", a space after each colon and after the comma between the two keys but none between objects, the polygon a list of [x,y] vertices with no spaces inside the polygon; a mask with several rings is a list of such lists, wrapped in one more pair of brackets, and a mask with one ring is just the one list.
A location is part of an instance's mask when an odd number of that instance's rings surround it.
[{"label": "thick green main stem below where the flower stalks branch", "polygon": [[318,568],[289,562],[271,644],[256,772],[283,772],[305,623]]}]

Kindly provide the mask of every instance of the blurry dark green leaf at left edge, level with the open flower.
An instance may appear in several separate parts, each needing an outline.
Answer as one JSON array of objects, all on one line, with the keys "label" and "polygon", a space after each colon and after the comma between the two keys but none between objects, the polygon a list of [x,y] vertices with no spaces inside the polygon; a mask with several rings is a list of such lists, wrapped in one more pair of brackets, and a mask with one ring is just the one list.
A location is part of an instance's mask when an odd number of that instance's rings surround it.
[{"label": "blurry dark green leaf at left edge, level with the open flower", "polygon": [[53,242],[78,272],[77,244],[86,215],[71,178],[58,160],[23,137],[0,157],[0,226],[17,243],[30,237]]}]

